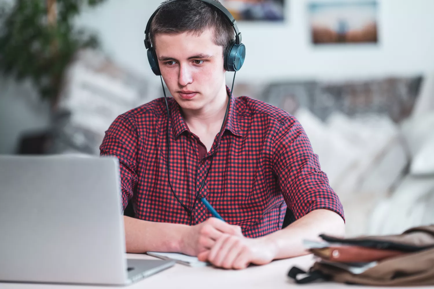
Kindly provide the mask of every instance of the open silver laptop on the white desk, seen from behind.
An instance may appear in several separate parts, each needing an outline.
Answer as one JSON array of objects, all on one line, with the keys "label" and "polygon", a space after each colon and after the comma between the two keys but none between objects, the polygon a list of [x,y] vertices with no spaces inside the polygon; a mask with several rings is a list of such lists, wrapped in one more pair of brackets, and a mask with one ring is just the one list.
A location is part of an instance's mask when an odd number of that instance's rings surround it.
[{"label": "open silver laptop on the white desk, seen from behind", "polygon": [[0,156],[0,280],[126,285],[174,265],[126,260],[112,157]]}]

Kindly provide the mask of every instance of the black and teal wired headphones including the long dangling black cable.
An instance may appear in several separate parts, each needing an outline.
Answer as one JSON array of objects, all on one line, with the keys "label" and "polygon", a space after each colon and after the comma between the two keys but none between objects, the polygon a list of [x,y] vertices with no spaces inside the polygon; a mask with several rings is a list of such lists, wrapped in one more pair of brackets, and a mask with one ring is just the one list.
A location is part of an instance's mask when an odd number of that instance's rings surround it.
[{"label": "black and teal wired headphones including the long dangling black cable", "polygon": [[[166,145],[167,145],[167,178],[168,178],[169,186],[170,186],[171,192],[174,195],[174,197],[176,198],[176,200],[181,204],[181,206],[184,208],[184,210],[189,215],[189,217],[190,217],[190,225],[191,225],[193,223],[193,211],[192,211],[192,209],[194,208],[194,205],[196,204],[197,197],[200,195],[200,192],[202,191],[202,188],[204,187],[205,180],[207,179],[208,173],[210,172],[211,165],[212,165],[212,160],[214,159],[214,154],[217,153],[217,149],[211,155],[212,159],[211,159],[210,166],[208,167],[207,172],[205,173],[205,178],[204,178],[204,180],[201,183],[199,191],[195,194],[194,202],[193,202],[193,207],[190,210],[189,208],[187,208],[186,205],[184,205],[184,203],[175,194],[174,189],[172,187],[172,184],[170,182],[170,175],[169,175],[169,159],[170,159],[169,158],[169,155],[170,155],[170,146],[169,146],[169,139],[170,139],[170,130],[169,130],[170,112],[169,112],[169,105],[168,105],[168,102],[167,102],[166,92],[164,90],[163,78],[161,77],[161,71],[160,71],[160,68],[158,67],[158,58],[157,58],[157,55],[155,54],[155,49],[152,47],[151,42],[149,41],[149,29],[151,28],[151,22],[152,22],[152,19],[154,19],[155,14],[157,14],[158,10],[160,10],[161,7],[163,7],[163,6],[165,6],[165,5],[169,4],[169,3],[175,2],[175,1],[192,1],[192,0],[170,0],[168,2],[164,2],[161,6],[159,6],[157,8],[157,10],[155,10],[155,12],[151,15],[151,18],[149,18],[148,24],[146,25],[146,30],[145,30],[145,47],[148,50],[148,61],[149,61],[149,65],[151,65],[152,71],[154,72],[155,75],[159,75],[160,76],[161,87],[163,88],[163,94],[164,94],[164,101],[166,102],[167,121],[168,121],[168,125],[167,125],[167,138],[166,138]],[[229,103],[230,103],[230,99],[232,97],[233,84],[235,82],[235,74],[237,73],[238,70],[240,70],[241,66],[243,66],[244,58],[246,57],[246,47],[244,46],[243,43],[241,43],[241,33],[238,30],[237,21],[235,21],[235,19],[233,18],[232,14],[230,14],[230,12],[223,5],[221,5],[220,3],[218,3],[218,2],[216,2],[214,0],[194,0],[194,1],[201,1],[201,2],[208,3],[211,6],[215,7],[217,10],[221,11],[226,16],[226,18],[230,21],[233,29],[235,30],[235,40],[231,40],[230,43],[229,43],[229,45],[227,46],[226,50],[224,51],[224,69],[226,71],[234,71],[235,73],[233,75],[232,88],[230,90],[229,101],[228,101],[227,106],[226,106],[226,113],[224,115],[223,123],[221,124],[221,128],[220,128],[220,133],[219,133],[219,139],[220,139],[222,137],[222,135],[223,135],[223,127],[224,127],[224,123],[226,122],[227,114],[228,114],[228,111],[229,111]]]}]

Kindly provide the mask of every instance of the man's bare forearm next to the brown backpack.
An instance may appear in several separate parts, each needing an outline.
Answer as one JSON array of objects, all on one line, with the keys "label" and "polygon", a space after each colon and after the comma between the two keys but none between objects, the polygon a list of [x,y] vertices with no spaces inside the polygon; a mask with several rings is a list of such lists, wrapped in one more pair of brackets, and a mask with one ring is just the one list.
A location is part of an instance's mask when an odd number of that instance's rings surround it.
[{"label": "man's bare forearm next to the brown backpack", "polygon": [[266,246],[272,247],[274,259],[283,259],[307,254],[302,241],[318,240],[319,234],[338,237],[345,235],[345,223],[333,211],[320,209],[310,212],[283,230],[262,237]]}]

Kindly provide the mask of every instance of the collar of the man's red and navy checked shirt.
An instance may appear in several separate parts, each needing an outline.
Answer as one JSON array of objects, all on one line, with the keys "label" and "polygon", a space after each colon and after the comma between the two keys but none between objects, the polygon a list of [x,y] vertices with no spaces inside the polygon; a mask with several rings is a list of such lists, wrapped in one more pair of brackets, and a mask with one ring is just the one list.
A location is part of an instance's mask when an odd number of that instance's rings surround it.
[{"label": "collar of the man's red and navy checked shirt", "polygon": [[[230,89],[226,87],[227,95],[230,95]],[[224,125],[223,131],[229,130],[231,133],[233,133],[236,136],[242,136],[241,129],[238,125],[238,115],[237,115],[237,109],[235,107],[235,100],[232,97],[230,97],[229,102],[229,111],[227,112],[227,121]],[[173,136],[175,139],[178,138],[178,136],[183,133],[184,131],[190,131],[187,127],[187,124],[185,123],[184,117],[182,117],[181,114],[181,107],[179,104],[173,99],[173,105],[172,105],[172,130],[173,130]]]}]

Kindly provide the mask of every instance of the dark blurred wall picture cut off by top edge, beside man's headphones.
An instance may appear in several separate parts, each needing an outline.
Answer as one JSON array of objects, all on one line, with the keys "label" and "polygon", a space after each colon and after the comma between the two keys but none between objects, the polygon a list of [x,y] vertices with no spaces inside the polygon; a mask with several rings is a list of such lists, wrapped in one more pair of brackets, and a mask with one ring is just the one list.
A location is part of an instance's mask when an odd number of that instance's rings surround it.
[{"label": "dark blurred wall picture cut off by top edge, beside man's headphones", "polygon": [[275,21],[285,19],[288,0],[221,0],[237,21]]}]

